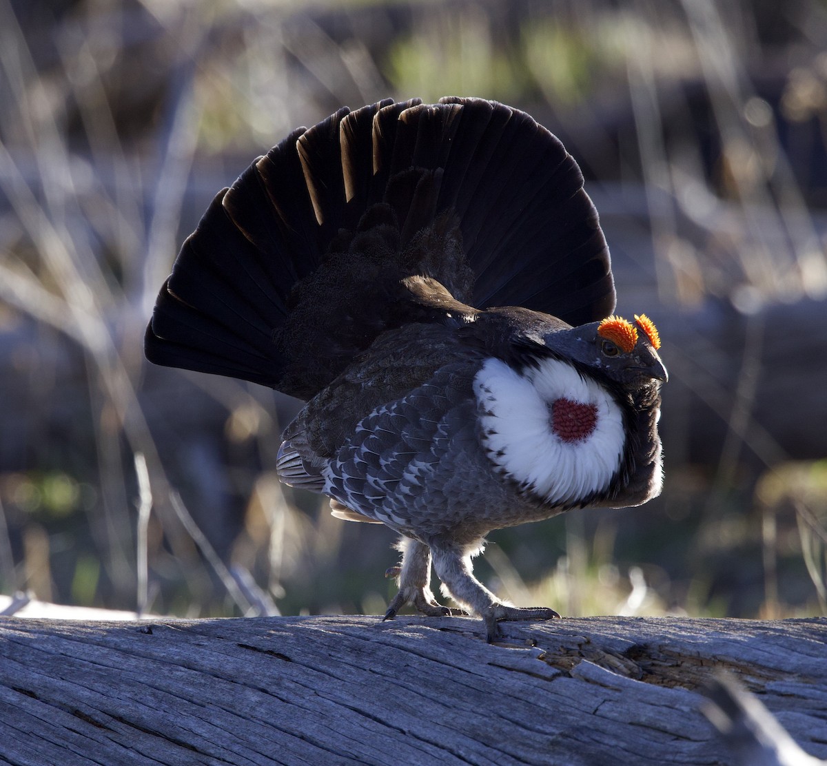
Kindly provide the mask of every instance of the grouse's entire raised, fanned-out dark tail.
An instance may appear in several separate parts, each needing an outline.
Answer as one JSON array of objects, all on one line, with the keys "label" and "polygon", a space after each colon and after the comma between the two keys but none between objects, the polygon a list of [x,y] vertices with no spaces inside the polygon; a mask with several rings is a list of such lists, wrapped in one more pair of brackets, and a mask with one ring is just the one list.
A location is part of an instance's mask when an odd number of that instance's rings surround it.
[{"label": "grouse's entire raised, fanned-out dark tail", "polygon": [[[476,307],[594,321],[614,309],[614,286],[582,183],[551,133],[502,104],[343,108],[216,197],[161,289],[147,357],[310,396],[387,326],[382,281],[413,274]],[[464,256],[406,250],[423,230],[456,236],[455,223]],[[472,290],[462,287],[471,272]],[[323,356],[309,377],[295,359],[307,348]]]}]

